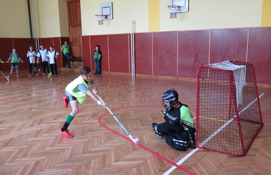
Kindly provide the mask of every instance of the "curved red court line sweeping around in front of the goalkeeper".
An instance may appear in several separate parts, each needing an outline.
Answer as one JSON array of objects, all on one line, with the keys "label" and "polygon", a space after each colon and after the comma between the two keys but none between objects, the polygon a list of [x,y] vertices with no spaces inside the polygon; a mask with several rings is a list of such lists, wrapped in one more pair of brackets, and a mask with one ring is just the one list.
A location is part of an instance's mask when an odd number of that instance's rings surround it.
[{"label": "curved red court line sweeping around in front of the goalkeeper", "polygon": [[[162,107],[162,106],[156,106],[156,105],[142,105],[142,106],[130,106],[130,107],[144,107],[144,106]],[[115,109],[115,110],[120,110],[120,109],[125,109],[125,108],[130,108],[130,107],[123,107],[123,108],[119,108],[119,109]],[[115,111],[115,110],[112,110],[112,111]],[[123,138],[125,138],[126,140],[129,140],[130,142],[133,143],[133,141],[132,141],[131,139],[129,139],[128,137],[125,137],[124,135],[118,133],[117,131],[114,131],[113,129],[108,128],[107,126],[105,126],[105,125],[101,122],[101,119],[103,118],[103,116],[104,116],[105,114],[108,114],[108,113],[109,113],[109,112],[104,113],[103,115],[101,115],[101,116],[99,117],[99,119],[98,119],[99,124],[100,124],[101,126],[103,126],[104,128],[107,128],[109,131],[112,131],[112,132],[114,132],[115,134],[119,135],[120,137],[123,137]],[[110,114],[110,115],[111,115],[111,114]],[[186,173],[192,174],[192,175],[196,175],[195,173],[192,173],[191,171],[185,169],[184,167],[181,167],[180,165],[177,165],[176,163],[174,163],[174,162],[168,160],[167,158],[161,156],[160,154],[154,152],[153,150],[148,149],[148,148],[146,148],[145,146],[143,146],[143,145],[141,145],[141,144],[139,144],[139,143],[137,143],[136,145],[139,146],[139,147],[141,147],[141,148],[143,148],[143,149],[145,149],[145,150],[147,150],[148,152],[151,152],[152,154],[156,155],[157,157],[160,157],[160,158],[163,159],[164,161],[167,161],[168,163],[172,164],[173,166],[178,167],[179,169],[185,171]]]}]

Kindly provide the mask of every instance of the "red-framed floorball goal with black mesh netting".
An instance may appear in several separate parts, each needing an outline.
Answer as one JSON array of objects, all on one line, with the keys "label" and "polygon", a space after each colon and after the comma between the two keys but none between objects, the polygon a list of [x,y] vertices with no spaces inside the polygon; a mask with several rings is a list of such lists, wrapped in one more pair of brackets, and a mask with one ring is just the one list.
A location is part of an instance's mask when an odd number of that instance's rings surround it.
[{"label": "red-framed floorball goal with black mesh netting", "polygon": [[253,65],[204,65],[197,79],[197,147],[245,155],[263,126]]}]

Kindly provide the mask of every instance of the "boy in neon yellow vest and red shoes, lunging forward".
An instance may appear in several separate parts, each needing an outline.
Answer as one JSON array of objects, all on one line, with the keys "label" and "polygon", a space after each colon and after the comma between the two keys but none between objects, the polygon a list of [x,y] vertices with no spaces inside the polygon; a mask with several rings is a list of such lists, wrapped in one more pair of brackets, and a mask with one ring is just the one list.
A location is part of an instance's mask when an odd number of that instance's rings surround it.
[{"label": "boy in neon yellow vest and red shoes, lunging forward", "polygon": [[[64,123],[63,127],[59,130],[59,133],[67,138],[73,137],[73,135],[69,133],[68,126],[70,125],[70,122],[73,120],[75,115],[79,112],[78,103],[82,104],[85,101],[86,97],[89,95],[100,106],[104,108],[106,108],[107,106],[107,104],[102,103],[95,96],[99,94],[97,91],[98,88],[92,79],[91,69],[88,66],[83,66],[80,69],[80,74],[81,75],[79,77],[77,77],[75,80],[73,80],[67,85],[65,89],[67,97],[63,97],[64,107],[67,108],[69,102],[72,107],[72,111],[68,115],[66,122]],[[92,90],[93,93],[89,91],[90,83],[93,86]]]}]

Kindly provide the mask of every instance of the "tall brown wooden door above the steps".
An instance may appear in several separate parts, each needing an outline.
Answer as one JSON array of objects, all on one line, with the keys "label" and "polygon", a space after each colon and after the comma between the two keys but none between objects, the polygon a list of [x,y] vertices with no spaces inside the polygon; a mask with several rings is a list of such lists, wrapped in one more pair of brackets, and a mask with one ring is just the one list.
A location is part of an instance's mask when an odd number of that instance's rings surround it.
[{"label": "tall brown wooden door above the steps", "polygon": [[70,51],[73,59],[82,60],[80,0],[67,1]]}]

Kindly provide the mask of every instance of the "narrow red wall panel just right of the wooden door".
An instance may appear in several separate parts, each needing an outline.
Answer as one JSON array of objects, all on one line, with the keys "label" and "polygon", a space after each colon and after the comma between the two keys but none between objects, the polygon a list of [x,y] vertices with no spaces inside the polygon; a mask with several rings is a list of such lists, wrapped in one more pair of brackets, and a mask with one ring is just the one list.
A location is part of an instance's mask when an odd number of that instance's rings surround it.
[{"label": "narrow red wall panel just right of the wooden door", "polygon": [[83,65],[89,66],[91,70],[95,69],[95,66],[93,68],[90,64],[91,60],[90,60],[89,36],[82,36],[82,52],[83,52]]}]

